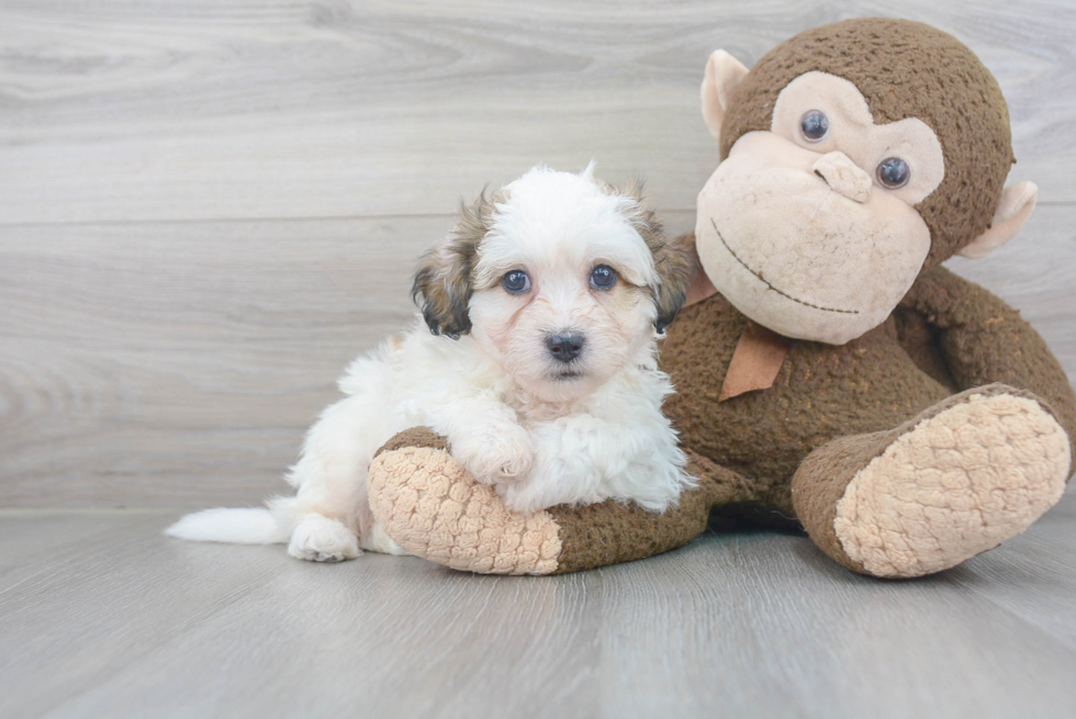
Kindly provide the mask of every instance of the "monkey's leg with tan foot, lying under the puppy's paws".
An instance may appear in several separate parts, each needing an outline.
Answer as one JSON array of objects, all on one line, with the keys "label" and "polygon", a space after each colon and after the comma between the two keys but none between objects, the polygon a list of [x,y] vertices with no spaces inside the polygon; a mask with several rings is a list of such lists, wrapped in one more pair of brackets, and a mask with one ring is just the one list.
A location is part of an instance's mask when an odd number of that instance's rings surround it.
[{"label": "monkey's leg with tan foot, lying under the puppy's paws", "polygon": [[370,507],[401,547],[439,564],[487,574],[562,574],[682,547],[705,531],[711,506],[755,498],[752,482],[688,454],[699,486],[663,514],[609,501],[523,516],[475,482],[441,437],[415,428],[374,458]]}]

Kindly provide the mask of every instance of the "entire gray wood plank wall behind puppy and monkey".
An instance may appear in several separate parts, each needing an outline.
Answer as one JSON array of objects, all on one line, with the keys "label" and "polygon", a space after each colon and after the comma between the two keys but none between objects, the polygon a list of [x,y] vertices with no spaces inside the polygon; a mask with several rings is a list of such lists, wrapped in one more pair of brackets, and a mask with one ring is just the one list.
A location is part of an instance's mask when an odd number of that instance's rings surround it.
[{"label": "entire gray wood plank wall behind puppy and monkey", "polygon": [[460,198],[594,158],[687,229],[709,53],[895,13],[1001,83],[1039,210],[951,266],[1076,378],[1073,2],[0,0],[0,506],[281,490]]}]

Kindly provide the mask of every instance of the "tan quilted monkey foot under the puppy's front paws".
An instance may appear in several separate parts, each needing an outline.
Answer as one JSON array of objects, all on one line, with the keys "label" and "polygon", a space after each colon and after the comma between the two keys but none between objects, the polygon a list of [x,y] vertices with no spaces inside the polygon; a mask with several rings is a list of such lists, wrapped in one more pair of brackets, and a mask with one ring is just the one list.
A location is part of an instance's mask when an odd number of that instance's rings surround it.
[{"label": "tan quilted monkey foot under the puppy's front paws", "polygon": [[[419,430],[408,430],[419,431]],[[397,544],[455,570],[483,574],[552,574],[561,542],[546,512],[509,512],[493,487],[479,484],[444,440],[386,446],[370,465],[370,508]],[[399,437],[399,436],[397,436]],[[400,442],[395,442],[400,443]]]}]

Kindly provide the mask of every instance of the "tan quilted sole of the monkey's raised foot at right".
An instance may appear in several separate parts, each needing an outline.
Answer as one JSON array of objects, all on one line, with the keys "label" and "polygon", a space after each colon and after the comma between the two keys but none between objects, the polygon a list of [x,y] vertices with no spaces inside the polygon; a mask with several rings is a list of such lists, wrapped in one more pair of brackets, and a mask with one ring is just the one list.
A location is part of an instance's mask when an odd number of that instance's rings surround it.
[{"label": "tan quilted sole of the monkey's raised foot at right", "polygon": [[852,478],[833,529],[875,576],[939,572],[1027,529],[1057,503],[1069,440],[1033,397],[1002,385],[930,411]]}]

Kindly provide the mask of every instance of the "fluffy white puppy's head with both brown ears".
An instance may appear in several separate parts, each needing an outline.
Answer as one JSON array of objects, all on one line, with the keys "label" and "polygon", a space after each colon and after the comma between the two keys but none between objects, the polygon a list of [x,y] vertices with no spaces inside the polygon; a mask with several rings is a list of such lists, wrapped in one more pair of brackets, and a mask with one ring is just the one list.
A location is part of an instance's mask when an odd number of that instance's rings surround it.
[{"label": "fluffy white puppy's head with both brown ears", "polygon": [[538,167],[463,206],[414,293],[434,334],[471,333],[540,400],[582,396],[649,357],[686,295],[688,251],[640,191]]}]

